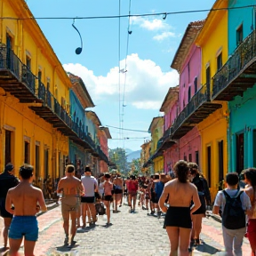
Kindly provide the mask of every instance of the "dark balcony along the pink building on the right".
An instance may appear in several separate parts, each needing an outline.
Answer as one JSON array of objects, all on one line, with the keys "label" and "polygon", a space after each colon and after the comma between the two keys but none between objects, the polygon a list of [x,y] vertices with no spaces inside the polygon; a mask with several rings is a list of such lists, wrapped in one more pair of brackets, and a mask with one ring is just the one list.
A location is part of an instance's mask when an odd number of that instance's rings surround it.
[{"label": "dark balcony along the pink building on the right", "polygon": [[196,124],[201,123],[207,116],[221,107],[221,104],[211,102],[210,85],[204,84],[172,124],[172,140],[180,139],[186,135]]}]

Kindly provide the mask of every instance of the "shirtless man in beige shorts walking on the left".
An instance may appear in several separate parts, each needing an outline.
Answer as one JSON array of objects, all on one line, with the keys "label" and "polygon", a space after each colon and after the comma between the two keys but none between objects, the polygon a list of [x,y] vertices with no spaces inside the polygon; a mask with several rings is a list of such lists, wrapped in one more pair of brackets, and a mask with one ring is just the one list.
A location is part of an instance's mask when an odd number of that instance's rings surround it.
[{"label": "shirtless man in beige shorts walking on the left", "polygon": [[80,195],[83,192],[83,186],[81,180],[75,177],[75,166],[68,164],[66,166],[66,177],[59,181],[57,193],[62,192],[61,199],[61,213],[63,217],[63,228],[65,232],[64,245],[68,245],[68,230],[69,230],[69,216],[71,219],[71,243],[73,246],[76,244],[74,237],[76,236],[76,212],[80,207]]}]

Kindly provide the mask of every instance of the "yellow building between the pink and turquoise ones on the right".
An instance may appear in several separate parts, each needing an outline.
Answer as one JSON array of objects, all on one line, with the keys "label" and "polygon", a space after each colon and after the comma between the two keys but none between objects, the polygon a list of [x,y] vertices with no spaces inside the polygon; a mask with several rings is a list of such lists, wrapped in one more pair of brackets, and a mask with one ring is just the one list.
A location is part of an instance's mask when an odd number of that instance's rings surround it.
[{"label": "yellow building between the pink and turquoise ones on the right", "polygon": [[[213,9],[228,8],[228,0],[216,1]],[[196,44],[202,49],[202,84],[212,95],[212,76],[228,60],[228,11],[210,12],[204,27],[196,38]],[[203,122],[197,125],[202,140],[202,166],[212,197],[221,187],[221,180],[228,172],[228,104],[220,103],[222,108],[214,111]],[[211,105],[209,105],[211,108]]]}]

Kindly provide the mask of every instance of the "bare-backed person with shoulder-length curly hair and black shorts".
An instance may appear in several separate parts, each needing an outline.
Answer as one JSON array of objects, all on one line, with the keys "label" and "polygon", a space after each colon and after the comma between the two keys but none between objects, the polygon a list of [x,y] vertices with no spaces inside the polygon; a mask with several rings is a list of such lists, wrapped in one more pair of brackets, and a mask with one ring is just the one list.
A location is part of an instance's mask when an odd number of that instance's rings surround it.
[{"label": "bare-backed person with shoulder-length curly hair and black shorts", "polygon": [[[174,165],[176,179],[164,185],[164,191],[159,200],[162,212],[166,212],[164,227],[171,244],[170,256],[188,256],[190,232],[192,228],[191,214],[196,212],[201,203],[196,186],[188,181],[188,163],[180,160]],[[168,198],[169,208],[165,200]],[[191,201],[194,205],[190,207]]]}]

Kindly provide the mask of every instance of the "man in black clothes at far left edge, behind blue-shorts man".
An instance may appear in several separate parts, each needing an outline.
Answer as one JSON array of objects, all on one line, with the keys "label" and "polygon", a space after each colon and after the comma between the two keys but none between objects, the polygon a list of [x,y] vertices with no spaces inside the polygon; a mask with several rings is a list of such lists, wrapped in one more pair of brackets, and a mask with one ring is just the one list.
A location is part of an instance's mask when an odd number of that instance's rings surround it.
[{"label": "man in black clothes at far left edge, behind blue-shorts man", "polygon": [[4,249],[7,249],[8,230],[12,222],[12,214],[5,210],[5,197],[9,188],[16,187],[19,180],[14,176],[14,166],[9,163],[6,164],[4,172],[0,174],[0,213],[4,219]]}]

